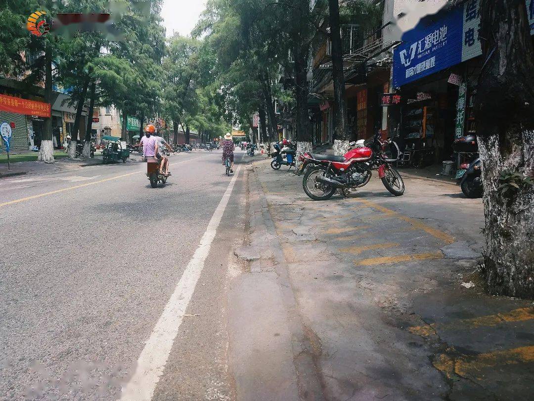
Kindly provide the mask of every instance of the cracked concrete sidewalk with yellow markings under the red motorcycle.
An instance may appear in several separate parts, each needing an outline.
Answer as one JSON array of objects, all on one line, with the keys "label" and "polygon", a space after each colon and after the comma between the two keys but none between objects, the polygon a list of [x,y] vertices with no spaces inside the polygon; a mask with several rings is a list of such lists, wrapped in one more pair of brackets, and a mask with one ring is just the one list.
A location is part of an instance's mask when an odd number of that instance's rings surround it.
[{"label": "cracked concrete sidewalk with yellow markings under the red motorcycle", "polygon": [[322,397],[531,399],[534,310],[485,295],[480,199],[404,174],[403,197],[375,178],[313,202],[301,177],[254,166]]}]

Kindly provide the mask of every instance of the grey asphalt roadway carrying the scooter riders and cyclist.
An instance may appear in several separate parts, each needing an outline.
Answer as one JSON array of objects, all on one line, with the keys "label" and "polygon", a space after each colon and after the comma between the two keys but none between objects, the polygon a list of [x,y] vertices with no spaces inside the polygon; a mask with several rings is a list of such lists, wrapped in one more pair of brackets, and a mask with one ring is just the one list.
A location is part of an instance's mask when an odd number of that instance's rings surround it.
[{"label": "grey asphalt roadway carrying the scooter riders and cyclist", "polygon": [[157,189],[139,163],[0,181],[0,399],[117,399],[136,372],[154,399],[234,398],[223,294],[244,168],[232,180],[220,157],[172,157]]}]

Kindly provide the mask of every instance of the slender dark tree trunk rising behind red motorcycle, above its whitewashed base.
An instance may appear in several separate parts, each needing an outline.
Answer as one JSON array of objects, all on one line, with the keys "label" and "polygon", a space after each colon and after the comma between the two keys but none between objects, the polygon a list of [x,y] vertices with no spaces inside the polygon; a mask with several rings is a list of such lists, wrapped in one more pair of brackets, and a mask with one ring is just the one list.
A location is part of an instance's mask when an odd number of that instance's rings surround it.
[{"label": "slender dark tree trunk rising behind red motorcycle, above its whitewashed base", "polygon": [[345,105],[345,77],[338,0],[328,0],[330,11],[330,39],[332,42],[332,79],[334,81],[334,139],[348,141],[347,105]]}]

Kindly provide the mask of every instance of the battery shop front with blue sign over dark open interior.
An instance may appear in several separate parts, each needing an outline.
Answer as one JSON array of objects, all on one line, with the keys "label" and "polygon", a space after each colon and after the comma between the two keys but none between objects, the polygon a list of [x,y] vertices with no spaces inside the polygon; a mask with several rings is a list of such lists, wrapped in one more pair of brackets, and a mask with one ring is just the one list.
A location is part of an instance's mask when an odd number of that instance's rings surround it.
[{"label": "battery shop front with blue sign over dark open interior", "polygon": [[[526,4],[533,27],[531,0]],[[406,164],[451,160],[454,140],[477,134],[479,32],[480,1],[468,0],[422,19],[392,52],[392,88],[402,102],[388,107],[388,124],[390,135],[406,148]]]}]

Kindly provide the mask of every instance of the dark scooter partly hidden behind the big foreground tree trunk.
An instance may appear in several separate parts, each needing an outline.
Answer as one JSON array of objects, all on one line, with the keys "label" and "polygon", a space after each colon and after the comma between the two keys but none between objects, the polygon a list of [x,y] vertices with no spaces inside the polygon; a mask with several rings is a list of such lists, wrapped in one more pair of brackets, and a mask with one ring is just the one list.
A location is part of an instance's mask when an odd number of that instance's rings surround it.
[{"label": "dark scooter partly hidden behind the big foreground tree trunk", "polygon": [[466,135],[454,141],[453,150],[468,159],[468,163],[460,165],[456,179],[464,195],[468,198],[481,198],[484,194],[482,186],[481,161],[478,157],[476,135]]}]

